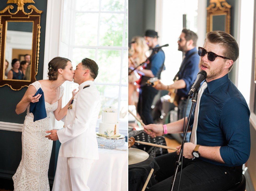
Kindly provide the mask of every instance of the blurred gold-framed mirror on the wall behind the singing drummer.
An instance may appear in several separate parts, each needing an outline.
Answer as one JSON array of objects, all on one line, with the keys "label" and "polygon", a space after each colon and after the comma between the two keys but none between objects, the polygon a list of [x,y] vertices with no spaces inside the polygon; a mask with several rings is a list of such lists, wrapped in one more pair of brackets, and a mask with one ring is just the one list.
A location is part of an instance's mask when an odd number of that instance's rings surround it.
[{"label": "blurred gold-framed mirror on the wall behind the singing drummer", "polygon": [[224,31],[230,33],[230,8],[226,0],[210,0],[207,7],[207,32]]}]

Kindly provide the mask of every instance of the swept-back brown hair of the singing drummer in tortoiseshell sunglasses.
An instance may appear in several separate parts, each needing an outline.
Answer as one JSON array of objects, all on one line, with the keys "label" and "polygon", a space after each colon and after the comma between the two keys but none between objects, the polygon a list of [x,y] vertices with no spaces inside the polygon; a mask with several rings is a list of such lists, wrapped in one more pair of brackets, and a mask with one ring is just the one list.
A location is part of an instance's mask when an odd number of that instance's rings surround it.
[{"label": "swept-back brown hair of the singing drummer in tortoiseshell sunglasses", "polygon": [[[219,44],[225,49],[223,55],[220,56],[230,58],[234,62],[237,60],[239,56],[239,47],[235,38],[230,34],[223,31],[211,31],[206,33],[205,41],[206,40],[209,40],[209,42],[213,44]],[[229,68],[229,71],[232,69],[232,67],[233,64]]]}]

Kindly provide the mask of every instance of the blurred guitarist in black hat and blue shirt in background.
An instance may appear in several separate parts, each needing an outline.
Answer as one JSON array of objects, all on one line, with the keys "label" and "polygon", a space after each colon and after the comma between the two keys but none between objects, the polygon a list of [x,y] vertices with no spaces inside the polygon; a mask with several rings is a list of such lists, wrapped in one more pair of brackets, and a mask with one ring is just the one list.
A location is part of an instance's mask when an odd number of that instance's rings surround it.
[{"label": "blurred guitarist in black hat and blue shirt in background", "polygon": [[149,57],[149,63],[145,68],[139,68],[138,70],[143,73],[141,80],[141,91],[139,93],[138,101],[138,113],[142,120],[146,124],[154,123],[151,114],[151,105],[158,90],[152,86],[147,86],[146,82],[152,77],[158,77],[160,79],[161,71],[164,68],[165,54],[161,48],[157,48],[158,34],[154,30],[147,30],[144,35],[147,41],[149,49],[155,49]]}]

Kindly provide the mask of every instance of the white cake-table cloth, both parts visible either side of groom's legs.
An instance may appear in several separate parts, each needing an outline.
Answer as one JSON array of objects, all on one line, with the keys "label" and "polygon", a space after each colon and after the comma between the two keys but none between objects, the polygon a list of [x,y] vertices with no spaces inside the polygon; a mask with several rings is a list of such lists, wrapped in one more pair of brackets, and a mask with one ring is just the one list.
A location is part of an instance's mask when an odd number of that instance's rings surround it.
[{"label": "white cake-table cloth, both parts visible either side of groom's legs", "polygon": [[[128,149],[127,142],[125,142],[125,145],[118,148]],[[98,151],[99,160],[94,160],[92,163],[87,182],[90,191],[127,191],[128,151],[117,151],[103,148],[98,148]],[[57,169],[53,184],[54,191],[70,191],[66,161],[66,158],[58,156]]]}]

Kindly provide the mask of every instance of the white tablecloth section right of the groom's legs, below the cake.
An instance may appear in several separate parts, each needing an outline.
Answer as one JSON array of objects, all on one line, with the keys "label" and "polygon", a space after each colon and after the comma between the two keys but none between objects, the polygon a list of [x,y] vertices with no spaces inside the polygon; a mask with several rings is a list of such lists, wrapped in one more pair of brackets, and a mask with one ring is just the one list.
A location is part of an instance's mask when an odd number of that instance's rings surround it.
[{"label": "white tablecloth section right of the groom's legs, below the cake", "polygon": [[[128,144],[118,148],[128,149]],[[94,160],[87,185],[91,191],[128,190],[128,151],[99,148],[99,160]]]}]

